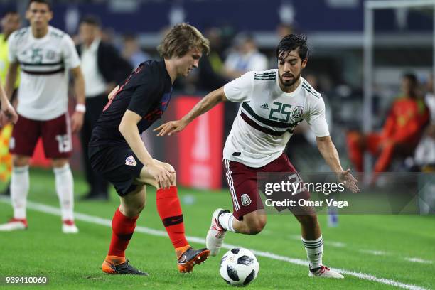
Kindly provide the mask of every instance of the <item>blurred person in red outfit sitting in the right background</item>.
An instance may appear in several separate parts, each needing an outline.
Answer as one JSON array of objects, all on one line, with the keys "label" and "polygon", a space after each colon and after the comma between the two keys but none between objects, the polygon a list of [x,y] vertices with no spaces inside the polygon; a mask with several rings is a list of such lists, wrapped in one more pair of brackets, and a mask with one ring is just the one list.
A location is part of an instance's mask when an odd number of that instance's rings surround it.
[{"label": "blurred person in red outfit sitting in the right background", "polygon": [[357,171],[364,170],[365,151],[376,156],[374,173],[387,171],[393,156],[409,156],[414,153],[429,114],[424,100],[419,96],[418,81],[414,74],[403,75],[401,90],[401,95],[391,106],[382,131],[368,134],[348,132],[348,154]]}]

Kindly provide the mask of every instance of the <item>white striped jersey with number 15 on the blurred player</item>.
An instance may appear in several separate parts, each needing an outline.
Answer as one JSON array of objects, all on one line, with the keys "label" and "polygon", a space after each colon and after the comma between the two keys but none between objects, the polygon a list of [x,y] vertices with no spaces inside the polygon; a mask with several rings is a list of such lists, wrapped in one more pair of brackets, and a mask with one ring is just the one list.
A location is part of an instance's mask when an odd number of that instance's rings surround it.
[{"label": "white striped jersey with number 15 on the blurred player", "polygon": [[68,70],[80,65],[68,34],[52,26],[43,38],[33,37],[30,27],[15,31],[9,37],[9,60],[21,66],[18,114],[45,121],[67,112]]}]

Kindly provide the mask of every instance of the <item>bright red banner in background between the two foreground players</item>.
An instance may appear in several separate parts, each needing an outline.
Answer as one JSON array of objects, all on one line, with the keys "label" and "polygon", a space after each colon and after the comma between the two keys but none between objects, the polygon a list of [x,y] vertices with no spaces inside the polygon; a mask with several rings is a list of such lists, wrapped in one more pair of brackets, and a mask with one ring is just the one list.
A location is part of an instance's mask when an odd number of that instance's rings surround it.
[{"label": "bright red banner in background between the two foreground players", "polygon": [[[200,97],[176,98],[176,119],[181,119]],[[224,107],[218,104],[196,118],[178,135],[178,183],[195,188],[222,187]]]}]

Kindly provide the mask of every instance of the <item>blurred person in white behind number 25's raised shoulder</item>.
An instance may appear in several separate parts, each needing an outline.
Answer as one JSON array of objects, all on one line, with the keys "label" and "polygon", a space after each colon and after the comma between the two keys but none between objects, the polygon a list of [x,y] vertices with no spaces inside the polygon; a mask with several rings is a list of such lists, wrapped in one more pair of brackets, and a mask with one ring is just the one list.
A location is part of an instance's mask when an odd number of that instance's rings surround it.
[{"label": "blurred person in white behind number 25's raised shoulder", "polygon": [[254,36],[239,34],[235,47],[225,59],[225,76],[234,79],[252,70],[267,70],[267,57],[260,53]]}]

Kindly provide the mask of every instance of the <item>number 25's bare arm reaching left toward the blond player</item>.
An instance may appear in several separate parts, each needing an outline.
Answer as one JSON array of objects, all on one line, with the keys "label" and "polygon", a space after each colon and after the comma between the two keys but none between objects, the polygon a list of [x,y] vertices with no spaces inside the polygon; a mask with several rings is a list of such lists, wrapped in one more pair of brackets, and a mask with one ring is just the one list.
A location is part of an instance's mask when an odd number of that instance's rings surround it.
[{"label": "number 25's bare arm reaching left toward the blond player", "polygon": [[166,122],[165,124],[161,124],[159,127],[154,129],[153,131],[159,131],[157,136],[171,136],[172,133],[179,132],[184,129],[190,122],[192,122],[196,117],[204,114],[208,110],[215,107],[215,105],[220,102],[226,102],[227,97],[225,96],[225,92],[223,87],[218,90],[214,90],[210,92],[208,95],[203,97],[198,104],[195,104],[195,107],[190,110],[183,118],[177,121]]}]

